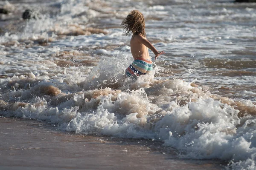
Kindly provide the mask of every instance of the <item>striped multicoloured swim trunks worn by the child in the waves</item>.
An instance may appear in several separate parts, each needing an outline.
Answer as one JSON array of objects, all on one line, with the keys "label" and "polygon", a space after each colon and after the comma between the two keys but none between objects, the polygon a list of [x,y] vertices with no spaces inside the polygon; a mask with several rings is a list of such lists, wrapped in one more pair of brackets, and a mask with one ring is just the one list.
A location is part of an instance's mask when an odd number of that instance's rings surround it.
[{"label": "striped multicoloured swim trunks worn by the child in the waves", "polygon": [[137,58],[131,65],[125,70],[127,77],[138,77],[145,75],[147,72],[153,70],[152,61],[145,58]]}]

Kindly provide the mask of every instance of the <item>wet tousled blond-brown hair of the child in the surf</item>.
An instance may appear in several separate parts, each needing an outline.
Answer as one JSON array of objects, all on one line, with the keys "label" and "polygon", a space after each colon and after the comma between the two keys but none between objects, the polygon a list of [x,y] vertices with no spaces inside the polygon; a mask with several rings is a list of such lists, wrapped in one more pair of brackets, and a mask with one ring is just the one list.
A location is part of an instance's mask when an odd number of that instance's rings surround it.
[{"label": "wet tousled blond-brown hair of the child in the surf", "polygon": [[141,34],[146,37],[144,15],[138,10],[132,10],[122,21],[121,26],[124,27],[126,36]]}]

